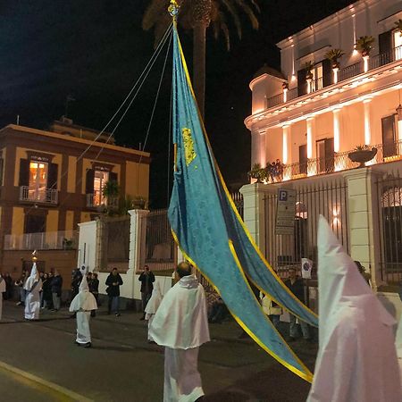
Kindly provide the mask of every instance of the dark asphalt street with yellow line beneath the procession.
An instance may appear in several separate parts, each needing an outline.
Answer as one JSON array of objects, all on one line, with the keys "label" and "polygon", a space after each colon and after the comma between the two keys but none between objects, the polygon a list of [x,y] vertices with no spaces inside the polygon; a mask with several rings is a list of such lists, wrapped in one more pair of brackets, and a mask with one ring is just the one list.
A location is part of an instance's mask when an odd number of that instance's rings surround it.
[{"label": "dark asphalt street with yellow line beneath the procession", "polygon": [[[147,343],[140,314],[122,312],[115,317],[101,309],[91,321],[90,349],[73,343],[75,320],[66,309],[46,311],[40,322],[25,322],[22,307],[4,302],[3,315],[2,399],[162,400],[163,349]],[[306,381],[276,363],[251,339],[238,339],[236,322],[212,324],[210,329],[213,340],[201,348],[199,364],[206,402],[306,400]],[[292,346],[313,370],[316,346],[303,340]]]}]

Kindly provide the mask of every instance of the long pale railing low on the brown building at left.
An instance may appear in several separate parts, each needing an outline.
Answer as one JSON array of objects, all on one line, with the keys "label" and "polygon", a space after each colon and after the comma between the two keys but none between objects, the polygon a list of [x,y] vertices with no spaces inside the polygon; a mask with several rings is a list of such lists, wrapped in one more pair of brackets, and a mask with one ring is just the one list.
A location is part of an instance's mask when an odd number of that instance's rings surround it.
[{"label": "long pale railing low on the brown building at left", "polygon": [[76,230],[4,236],[4,250],[74,250],[76,248]]}]

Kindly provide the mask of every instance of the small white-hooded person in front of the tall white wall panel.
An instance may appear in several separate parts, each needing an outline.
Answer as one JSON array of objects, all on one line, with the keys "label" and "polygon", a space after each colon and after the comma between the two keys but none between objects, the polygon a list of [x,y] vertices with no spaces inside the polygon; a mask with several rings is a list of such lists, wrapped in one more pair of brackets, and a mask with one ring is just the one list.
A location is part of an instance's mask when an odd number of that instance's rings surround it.
[{"label": "small white-hooded person in front of the tall white wall panel", "polygon": [[90,348],[92,340],[89,321],[91,311],[97,309],[97,304],[95,296],[89,291],[86,271],[85,267],[81,268],[82,281],[78,295],[71,301],[70,312],[76,313],[77,337],[75,343],[79,346],[83,345],[84,348]]}]

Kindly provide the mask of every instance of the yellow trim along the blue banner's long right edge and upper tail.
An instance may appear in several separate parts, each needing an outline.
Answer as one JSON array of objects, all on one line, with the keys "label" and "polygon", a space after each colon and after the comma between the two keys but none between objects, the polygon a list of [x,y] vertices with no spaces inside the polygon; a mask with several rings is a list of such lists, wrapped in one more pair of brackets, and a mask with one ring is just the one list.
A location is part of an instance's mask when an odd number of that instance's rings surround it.
[{"label": "yellow trim along the blue banner's long right edge and upper tail", "polygon": [[[198,119],[199,119],[199,121],[200,121],[200,123],[201,123],[201,129],[203,130],[203,134],[204,134],[204,137],[205,137],[205,141],[206,141],[207,146],[209,147],[210,150],[212,150],[211,143],[209,142],[209,138],[208,138],[208,135],[207,135],[206,130],[205,130],[204,121],[203,121],[203,119],[202,119],[202,117],[201,117],[201,113],[199,112],[199,109],[198,109],[197,98],[196,98],[196,96],[195,96],[195,94],[194,94],[194,90],[193,90],[193,87],[192,87],[192,84],[191,84],[191,80],[190,80],[190,78],[189,78],[187,63],[186,63],[186,59],[185,59],[185,57],[184,57],[184,54],[183,54],[183,51],[182,51],[182,48],[181,48],[180,38],[179,38],[179,35],[178,35],[178,33],[177,33],[177,30],[175,30],[175,34],[176,34],[176,36],[177,36],[177,40],[178,40],[178,44],[179,44],[180,56],[181,56],[181,63],[183,64],[183,69],[184,69],[184,71],[185,71],[185,73],[186,73],[186,78],[187,78],[187,82],[188,82],[188,88],[190,89],[191,95],[193,96],[194,101],[195,101],[195,103],[196,103],[196,105],[197,105]],[[241,217],[240,217],[240,215],[239,215],[238,209],[236,208],[236,205],[234,205],[233,200],[232,200],[231,197],[230,197],[230,193],[229,193],[228,188],[226,187],[226,184],[225,184],[225,182],[224,182],[224,180],[223,180],[222,173],[221,173],[221,171],[220,171],[220,169],[219,169],[218,163],[216,162],[216,159],[215,159],[215,157],[214,157],[214,153],[211,152],[210,155],[212,155],[212,157],[213,157],[215,170],[216,170],[216,172],[217,172],[217,174],[218,174],[219,179],[221,180],[223,190],[224,190],[224,192],[225,192],[225,194],[226,194],[226,197],[227,197],[228,200],[229,200],[231,209],[233,210],[233,212],[234,212],[236,218],[238,219],[239,224],[241,225],[241,227],[242,227],[243,230],[245,231],[246,236],[247,236],[247,239],[250,241],[251,245],[255,248],[255,252],[257,253],[257,255],[261,258],[261,261],[263,262],[264,266],[265,266],[265,267],[272,273],[272,275],[277,279],[277,281],[280,283],[282,289],[283,289],[286,293],[288,293],[289,296],[292,297],[292,298],[298,303],[299,306],[302,306],[303,308],[306,309],[307,312],[309,312],[310,314],[312,314],[314,317],[318,318],[318,315],[315,314],[313,310],[311,310],[310,308],[308,308],[304,303],[302,303],[302,302],[290,291],[290,289],[283,283],[283,281],[281,281],[281,278],[278,276],[278,274],[273,271],[272,266],[268,263],[268,261],[266,261],[264,255],[261,253],[261,250],[260,250],[260,249],[258,248],[258,246],[255,244],[255,240],[253,239],[253,237],[252,237],[251,234],[249,233],[249,231],[248,231],[246,225],[245,225],[244,222],[242,221],[242,219],[241,219]],[[252,280],[250,279],[250,281],[252,281]],[[255,285],[256,288],[260,289],[260,291],[261,291],[262,293],[264,293],[264,295],[266,295],[266,296],[268,296],[268,297],[271,297],[272,300],[273,300],[275,303],[277,303],[278,305],[280,305],[280,306],[281,306],[282,308],[284,308],[285,310],[289,311],[289,308],[288,308],[288,307],[283,306],[283,304],[280,303],[279,301],[277,301],[275,297],[272,297],[272,295],[269,294],[266,290],[264,290],[264,289],[262,289],[260,286],[258,286],[258,285],[255,283],[255,281],[252,281],[252,282],[253,282],[253,284]],[[292,311],[292,314],[293,314],[293,315],[296,315],[297,318],[299,318],[300,320],[304,321],[298,314],[295,314],[293,311]]]}]

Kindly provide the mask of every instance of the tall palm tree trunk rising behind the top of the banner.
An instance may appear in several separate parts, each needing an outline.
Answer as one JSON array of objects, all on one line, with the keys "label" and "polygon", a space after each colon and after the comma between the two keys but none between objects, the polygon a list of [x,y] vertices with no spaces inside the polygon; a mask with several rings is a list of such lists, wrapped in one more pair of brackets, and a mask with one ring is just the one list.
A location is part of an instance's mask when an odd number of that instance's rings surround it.
[{"label": "tall palm tree trunk rising behind the top of the banner", "polygon": [[199,21],[193,29],[193,85],[201,117],[205,106],[205,32],[207,25]]}]

